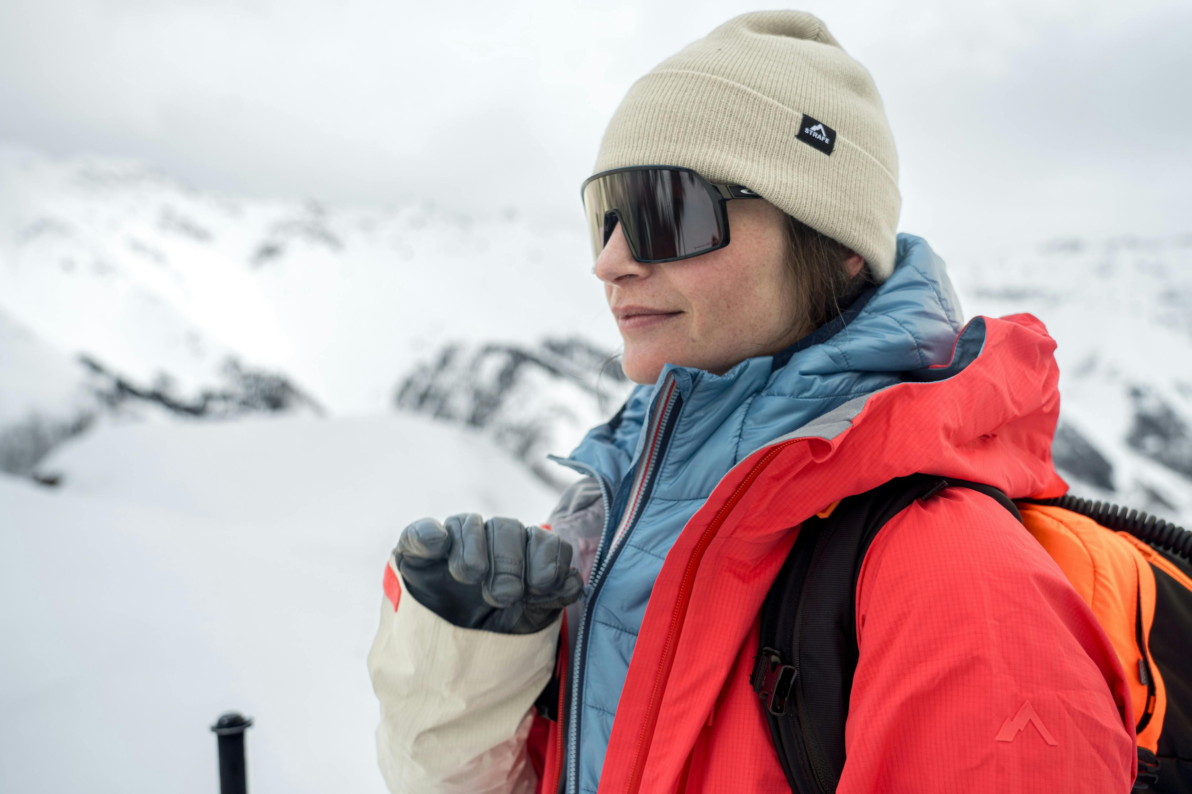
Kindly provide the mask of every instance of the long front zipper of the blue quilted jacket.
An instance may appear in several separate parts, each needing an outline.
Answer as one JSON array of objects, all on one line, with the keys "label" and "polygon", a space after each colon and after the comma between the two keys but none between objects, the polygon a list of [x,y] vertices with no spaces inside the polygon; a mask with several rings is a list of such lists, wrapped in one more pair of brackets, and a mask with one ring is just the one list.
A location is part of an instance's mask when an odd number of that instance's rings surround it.
[{"label": "long front zipper of the blue quilted jacket", "polygon": [[[576,658],[572,662],[573,669],[571,680],[571,719],[570,725],[567,725],[567,794],[577,794],[579,789],[578,742],[581,690],[583,689],[584,667],[586,662],[584,644],[588,639],[588,632],[590,630],[588,614],[596,604],[596,598],[600,595],[601,587],[604,583],[604,575],[609,571],[609,569],[611,569],[616,557],[620,556],[621,549],[625,548],[626,538],[628,538],[633,527],[637,526],[638,517],[641,515],[641,508],[645,506],[645,495],[648,494],[650,486],[653,483],[653,479],[658,473],[657,462],[665,452],[665,439],[670,436],[668,430],[673,426],[675,419],[678,415],[678,402],[681,401],[681,398],[673,375],[669,375],[666,380],[663,381],[663,387],[659,393],[665,396],[659,400],[658,405],[654,407],[654,415],[658,417],[658,419],[657,421],[650,423],[652,432],[646,438],[645,446],[642,448],[642,457],[638,461],[639,474],[641,476],[635,477],[637,481],[634,482],[634,488],[631,492],[629,501],[625,507],[626,517],[617,525],[617,531],[611,536],[608,532],[609,519],[611,518],[611,505],[607,498],[604,500],[604,529],[601,532],[600,546],[596,549],[596,567],[592,569],[591,580],[588,586],[588,598],[584,599],[584,608],[579,612],[579,629],[576,632]],[[569,465],[572,464],[569,463]],[[590,467],[584,468],[591,470]],[[601,482],[603,493],[603,477],[597,476],[597,480]]]}]

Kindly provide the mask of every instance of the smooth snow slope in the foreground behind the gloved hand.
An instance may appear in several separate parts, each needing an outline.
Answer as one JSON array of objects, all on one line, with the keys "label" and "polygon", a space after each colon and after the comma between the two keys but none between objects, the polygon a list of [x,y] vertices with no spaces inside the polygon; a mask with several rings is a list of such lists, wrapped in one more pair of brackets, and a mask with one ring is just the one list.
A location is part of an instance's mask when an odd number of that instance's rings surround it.
[{"label": "smooth snow slope in the foreground behind the gloved hand", "polygon": [[544,520],[554,493],[426,418],[101,427],[0,475],[0,790],[218,790],[228,708],[252,788],[384,792],[365,655],[406,521]]}]

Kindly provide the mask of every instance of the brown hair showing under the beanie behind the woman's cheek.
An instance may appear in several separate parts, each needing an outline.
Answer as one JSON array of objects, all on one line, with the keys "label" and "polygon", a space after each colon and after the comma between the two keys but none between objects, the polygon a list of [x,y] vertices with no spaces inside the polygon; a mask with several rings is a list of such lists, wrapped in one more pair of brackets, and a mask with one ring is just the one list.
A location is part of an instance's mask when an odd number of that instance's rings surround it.
[{"label": "brown hair showing under the beanie behind the woman's cheek", "polygon": [[853,251],[807,224],[787,215],[787,267],[794,287],[794,323],[801,339],[849,307],[874,279],[869,264],[850,275],[845,260]]}]

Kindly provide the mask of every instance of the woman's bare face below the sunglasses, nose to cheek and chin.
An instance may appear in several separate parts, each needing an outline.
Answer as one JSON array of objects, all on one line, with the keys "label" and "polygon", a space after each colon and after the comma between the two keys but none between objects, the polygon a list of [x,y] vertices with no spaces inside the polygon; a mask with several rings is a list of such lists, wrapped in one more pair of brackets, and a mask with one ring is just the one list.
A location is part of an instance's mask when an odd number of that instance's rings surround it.
[{"label": "woman's bare face below the sunglasses, nose to cheek and chin", "polygon": [[727,207],[731,242],[719,251],[642,264],[617,226],[596,260],[634,382],[653,383],[664,364],[720,375],[796,340],[782,211],[759,199]]}]

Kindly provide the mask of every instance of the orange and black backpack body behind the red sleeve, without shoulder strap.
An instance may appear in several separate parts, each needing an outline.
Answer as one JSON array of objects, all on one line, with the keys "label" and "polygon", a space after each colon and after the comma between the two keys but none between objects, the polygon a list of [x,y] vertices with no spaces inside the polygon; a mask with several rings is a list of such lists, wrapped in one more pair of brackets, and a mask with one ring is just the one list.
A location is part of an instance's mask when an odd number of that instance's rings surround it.
[{"label": "orange and black backpack body behind the red sleeve, without shoulder strap", "polygon": [[1135,790],[1192,792],[1192,532],[1074,496],[1018,508],[1122,659],[1138,732]]}]

